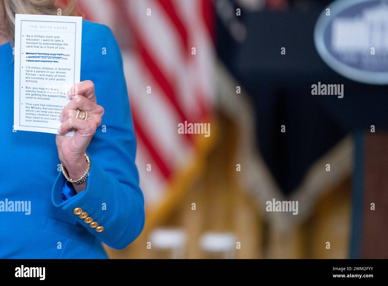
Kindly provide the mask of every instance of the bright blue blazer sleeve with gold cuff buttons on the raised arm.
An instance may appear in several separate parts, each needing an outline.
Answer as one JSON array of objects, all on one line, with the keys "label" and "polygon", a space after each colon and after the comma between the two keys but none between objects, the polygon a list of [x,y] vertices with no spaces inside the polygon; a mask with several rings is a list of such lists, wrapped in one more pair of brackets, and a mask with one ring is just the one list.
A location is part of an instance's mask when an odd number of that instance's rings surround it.
[{"label": "bright blue blazer sleeve with gold cuff buttons on the raised arm", "polygon": [[[105,109],[102,123],[87,148],[91,161],[87,188],[61,202],[66,179],[59,172],[52,188],[52,202],[100,241],[123,249],[144,226],[132,115],[121,53],[113,33],[107,26],[83,21],[81,81],[86,79],[94,82],[97,104]],[[87,212],[104,230],[90,228],[74,214],[76,208]]]}]

